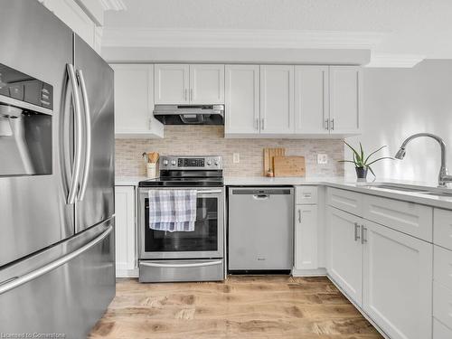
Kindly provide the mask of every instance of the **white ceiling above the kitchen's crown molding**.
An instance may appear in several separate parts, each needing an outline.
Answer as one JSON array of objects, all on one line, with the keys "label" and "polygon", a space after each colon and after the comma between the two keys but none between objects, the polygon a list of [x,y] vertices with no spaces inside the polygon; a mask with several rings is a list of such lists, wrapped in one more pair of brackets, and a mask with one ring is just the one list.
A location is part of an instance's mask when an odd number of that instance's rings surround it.
[{"label": "white ceiling above the kitchen's crown molding", "polygon": [[219,35],[278,31],[284,36],[287,31],[298,38],[308,31],[317,36],[325,31],[328,36],[344,33],[348,39],[356,34],[369,36],[363,47],[370,48],[374,59],[383,62],[418,57],[452,59],[452,0],[123,1],[126,11],[105,14],[109,46],[115,45],[119,31],[123,41],[127,33],[132,38],[134,33],[153,31],[155,37],[155,32],[168,29],[173,33],[190,29],[185,32]]}]

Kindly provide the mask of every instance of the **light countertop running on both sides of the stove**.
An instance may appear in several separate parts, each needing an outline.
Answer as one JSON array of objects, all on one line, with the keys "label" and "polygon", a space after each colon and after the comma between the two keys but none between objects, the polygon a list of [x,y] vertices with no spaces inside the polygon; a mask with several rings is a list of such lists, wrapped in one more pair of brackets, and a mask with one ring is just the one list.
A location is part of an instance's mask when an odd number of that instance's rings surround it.
[{"label": "light countertop running on both sides of the stove", "polygon": [[[146,180],[146,176],[118,176],[115,184],[118,186],[137,186],[140,181]],[[261,185],[323,185],[350,190],[358,193],[367,193],[378,195],[385,198],[397,199],[407,202],[416,202],[428,206],[452,210],[452,196],[437,196],[415,192],[402,192],[397,190],[378,187],[378,184],[404,184],[416,186],[422,190],[437,190],[435,184],[421,182],[407,182],[400,180],[379,180],[376,183],[358,183],[353,180],[346,180],[344,177],[279,177],[268,178],[265,176],[226,176],[224,177],[225,186],[261,186]],[[444,189],[443,189],[444,190]],[[447,192],[452,193],[451,189]]]}]

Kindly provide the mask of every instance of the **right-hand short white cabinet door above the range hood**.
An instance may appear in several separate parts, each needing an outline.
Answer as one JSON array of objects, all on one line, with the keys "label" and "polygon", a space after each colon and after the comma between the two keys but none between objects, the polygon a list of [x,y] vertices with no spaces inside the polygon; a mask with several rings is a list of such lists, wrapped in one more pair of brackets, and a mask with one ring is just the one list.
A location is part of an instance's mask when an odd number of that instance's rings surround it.
[{"label": "right-hand short white cabinet door above the range hood", "polygon": [[190,65],[190,102],[224,104],[224,65]]}]

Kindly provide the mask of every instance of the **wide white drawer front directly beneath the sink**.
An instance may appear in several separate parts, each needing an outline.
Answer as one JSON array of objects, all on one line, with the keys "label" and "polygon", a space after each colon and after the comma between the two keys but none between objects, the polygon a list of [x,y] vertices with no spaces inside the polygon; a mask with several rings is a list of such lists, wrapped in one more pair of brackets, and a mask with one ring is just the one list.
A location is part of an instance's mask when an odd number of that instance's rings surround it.
[{"label": "wide white drawer front directly beneath the sink", "polygon": [[431,207],[373,195],[365,195],[363,203],[364,219],[381,223],[421,240],[432,240],[433,209]]}]

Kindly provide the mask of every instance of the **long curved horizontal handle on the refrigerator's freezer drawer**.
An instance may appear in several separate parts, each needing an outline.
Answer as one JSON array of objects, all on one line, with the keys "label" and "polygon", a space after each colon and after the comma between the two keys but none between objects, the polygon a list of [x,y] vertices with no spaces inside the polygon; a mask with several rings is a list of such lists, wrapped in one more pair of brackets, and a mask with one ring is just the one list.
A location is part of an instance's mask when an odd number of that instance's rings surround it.
[{"label": "long curved horizontal handle on the refrigerator's freezer drawer", "polygon": [[52,261],[50,264],[43,266],[42,268],[38,268],[34,270],[33,272],[27,273],[22,277],[19,278],[13,278],[5,281],[2,285],[0,285],[0,295],[4,294],[5,292],[8,292],[9,290],[19,287],[21,285],[26,284],[29,281],[32,281],[35,278],[39,278],[42,275],[50,272],[51,270],[55,268],[59,268],[61,265],[66,264],[67,262],[71,261],[72,259],[75,259],[76,257],[80,256],[83,252],[86,252],[87,250],[91,249],[92,247],[96,246],[100,241],[104,240],[109,233],[113,231],[113,226],[108,226],[108,229],[103,231],[102,234],[99,235],[98,238],[89,241],[86,245],[80,247],[78,250],[74,250],[70,254],[65,255],[64,257],[61,257],[60,259],[56,259],[55,261]]}]

